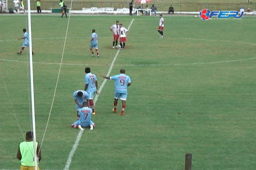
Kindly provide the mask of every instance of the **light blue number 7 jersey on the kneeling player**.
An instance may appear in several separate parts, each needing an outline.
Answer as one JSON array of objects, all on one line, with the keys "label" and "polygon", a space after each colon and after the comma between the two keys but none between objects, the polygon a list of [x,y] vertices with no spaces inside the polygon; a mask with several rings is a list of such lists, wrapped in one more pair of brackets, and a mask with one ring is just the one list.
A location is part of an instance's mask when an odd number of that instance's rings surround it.
[{"label": "light blue number 7 jersey on the kneeling player", "polygon": [[78,110],[79,120],[75,121],[73,125],[81,125],[82,127],[93,125],[94,122],[91,121],[92,109],[88,107],[83,107]]}]

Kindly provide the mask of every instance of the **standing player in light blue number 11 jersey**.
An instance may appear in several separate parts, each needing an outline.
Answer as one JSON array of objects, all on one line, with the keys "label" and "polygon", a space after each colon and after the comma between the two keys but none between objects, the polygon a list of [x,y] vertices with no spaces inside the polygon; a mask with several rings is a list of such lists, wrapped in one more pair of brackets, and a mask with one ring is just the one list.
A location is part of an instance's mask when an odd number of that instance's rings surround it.
[{"label": "standing player in light blue number 11 jersey", "polygon": [[91,73],[90,67],[85,68],[85,73],[86,73],[85,74],[85,91],[89,95],[89,104],[90,104],[90,108],[92,109],[92,114],[96,114],[94,110],[93,98],[94,98],[95,92],[96,94],[99,94],[99,92],[97,91],[98,89],[97,77],[95,74]]}]

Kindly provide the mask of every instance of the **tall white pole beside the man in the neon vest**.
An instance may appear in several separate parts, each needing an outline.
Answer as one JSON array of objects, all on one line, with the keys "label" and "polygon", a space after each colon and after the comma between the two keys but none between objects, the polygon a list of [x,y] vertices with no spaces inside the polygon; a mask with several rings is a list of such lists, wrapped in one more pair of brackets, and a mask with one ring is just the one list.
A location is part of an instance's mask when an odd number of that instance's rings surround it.
[{"label": "tall white pole beside the man in the neon vest", "polygon": [[31,30],[31,10],[30,0],[27,1],[28,12],[28,36],[29,36],[29,53],[30,53],[30,84],[31,84],[31,107],[32,107],[32,125],[33,125],[33,143],[34,143],[34,169],[37,170],[37,146],[36,146],[36,119],[34,111],[34,81],[33,81],[33,57],[32,57],[32,30]]}]

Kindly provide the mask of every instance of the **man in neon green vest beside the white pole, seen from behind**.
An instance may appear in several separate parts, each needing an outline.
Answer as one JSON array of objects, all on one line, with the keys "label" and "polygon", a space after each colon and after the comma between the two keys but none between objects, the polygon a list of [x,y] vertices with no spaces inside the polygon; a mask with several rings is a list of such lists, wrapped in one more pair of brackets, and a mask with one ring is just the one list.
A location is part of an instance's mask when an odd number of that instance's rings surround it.
[{"label": "man in neon green vest beside the white pole, seen from behind", "polygon": [[[26,141],[21,142],[18,147],[17,159],[21,160],[20,170],[34,170],[34,142],[33,142],[33,132],[29,131],[26,133]],[[37,164],[39,164],[42,159],[41,156],[41,145],[36,142],[37,145]],[[39,170],[39,166],[37,166]]]}]

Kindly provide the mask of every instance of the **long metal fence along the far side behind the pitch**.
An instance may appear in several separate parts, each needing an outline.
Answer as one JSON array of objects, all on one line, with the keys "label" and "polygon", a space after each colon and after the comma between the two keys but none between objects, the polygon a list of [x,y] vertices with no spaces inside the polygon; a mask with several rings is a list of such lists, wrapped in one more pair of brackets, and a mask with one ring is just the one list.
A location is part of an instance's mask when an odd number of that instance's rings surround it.
[{"label": "long metal fence along the far side behind the pitch", "polygon": [[[14,5],[12,1],[8,1],[9,7],[13,7]],[[91,8],[91,7],[114,7],[114,10],[117,8],[129,8],[127,2],[112,2],[112,1],[73,1],[71,8],[73,10],[82,10],[82,8]],[[66,5],[70,7],[70,4],[66,2]],[[140,4],[135,4],[139,6]],[[151,6],[152,4],[148,4]],[[193,2],[155,2],[154,5],[157,7],[157,11],[168,11],[170,5],[174,7],[175,11],[201,11],[202,9],[208,9],[210,11],[239,11],[240,7],[244,7],[245,11],[247,8],[251,10],[256,9],[256,3],[193,3]],[[26,1],[24,1],[24,6],[26,7]],[[145,6],[145,4],[144,4]],[[42,10],[49,10],[50,8],[58,8],[59,1],[41,1],[41,8]],[[31,10],[36,10],[36,1],[31,2]]]}]

